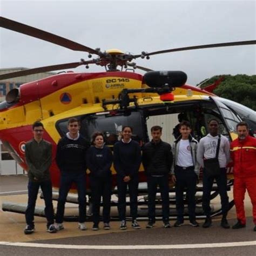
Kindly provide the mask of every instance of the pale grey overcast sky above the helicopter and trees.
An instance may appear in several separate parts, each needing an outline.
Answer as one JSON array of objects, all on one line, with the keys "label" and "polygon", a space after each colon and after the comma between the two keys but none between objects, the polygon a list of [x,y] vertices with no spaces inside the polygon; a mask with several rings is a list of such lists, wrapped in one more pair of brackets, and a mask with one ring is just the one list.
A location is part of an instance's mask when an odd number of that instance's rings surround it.
[{"label": "pale grey overcast sky above the helicopter and trees", "polygon": [[[5,1],[1,16],[90,48],[140,53],[256,39],[255,1]],[[0,29],[0,68],[87,59],[84,52]],[[182,70],[188,84],[220,74],[256,73],[256,46],[192,50],[137,59],[153,70]],[[84,71],[84,67],[76,71]],[[86,72],[103,71],[91,66]],[[137,70],[136,72],[144,73]]]}]

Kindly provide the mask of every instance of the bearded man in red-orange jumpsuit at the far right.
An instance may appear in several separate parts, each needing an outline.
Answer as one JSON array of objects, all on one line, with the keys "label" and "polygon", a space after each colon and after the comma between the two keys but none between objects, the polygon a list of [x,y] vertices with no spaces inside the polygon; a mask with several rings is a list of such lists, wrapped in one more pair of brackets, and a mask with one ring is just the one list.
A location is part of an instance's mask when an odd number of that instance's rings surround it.
[{"label": "bearded man in red-orange jumpsuit at the far right", "polygon": [[256,231],[256,138],[249,135],[245,122],[237,124],[238,138],[231,143],[231,158],[234,163],[234,203],[238,222],[234,229],[245,227],[245,191],[251,198],[253,207],[254,231]]}]

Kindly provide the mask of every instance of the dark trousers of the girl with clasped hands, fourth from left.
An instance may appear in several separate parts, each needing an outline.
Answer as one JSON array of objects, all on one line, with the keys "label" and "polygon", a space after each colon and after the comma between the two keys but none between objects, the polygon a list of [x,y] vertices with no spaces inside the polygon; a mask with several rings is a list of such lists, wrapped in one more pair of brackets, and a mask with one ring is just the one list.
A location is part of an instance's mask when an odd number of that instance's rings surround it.
[{"label": "dark trousers of the girl with clasped hands, fourth from left", "polygon": [[129,182],[124,182],[122,177],[117,177],[118,213],[119,213],[120,220],[125,220],[127,186],[129,189],[129,196],[130,196],[130,214],[132,219],[137,218],[138,185],[139,185],[138,175],[132,177]]}]

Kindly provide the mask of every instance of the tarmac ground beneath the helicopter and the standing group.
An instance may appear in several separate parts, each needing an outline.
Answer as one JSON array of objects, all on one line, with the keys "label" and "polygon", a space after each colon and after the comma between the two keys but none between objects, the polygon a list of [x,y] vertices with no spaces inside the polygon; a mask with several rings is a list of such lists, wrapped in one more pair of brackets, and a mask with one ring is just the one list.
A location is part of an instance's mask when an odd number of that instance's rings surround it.
[{"label": "tarmac ground beneath the helicopter and the standing group", "polygon": [[[12,201],[26,204],[25,176],[0,176],[0,203]],[[232,198],[232,192],[229,197]],[[218,199],[217,199],[218,200]],[[217,202],[218,203],[218,202]],[[39,199],[37,205],[44,205]],[[56,202],[54,203],[56,207]],[[256,255],[256,232],[253,231],[250,199],[245,200],[247,225],[240,230],[220,227],[220,217],[213,219],[210,228],[184,226],[163,228],[157,221],[146,229],[146,221],[139,221],[141,230],[133,230],[127,222],[127,231],[119,230],[119,222],[111,222],[111,230],[80,231],[77,223],[64,223],[65,229],[56,234],[45,231],[45,219],[35,218],[36,232],[24,235],[23,214],[0,210],[0,255]],[[77,205],[66,204],[66,212],[76,212]],[[116,208],[116,207],[113,207]],[[113,209],[116,211],[116,209]],[[234,207],[228,214],[231,225],[236,222]],[[198,220],[201,224],[203,220]],[[171,220],[171,224],[174,220]]]}]

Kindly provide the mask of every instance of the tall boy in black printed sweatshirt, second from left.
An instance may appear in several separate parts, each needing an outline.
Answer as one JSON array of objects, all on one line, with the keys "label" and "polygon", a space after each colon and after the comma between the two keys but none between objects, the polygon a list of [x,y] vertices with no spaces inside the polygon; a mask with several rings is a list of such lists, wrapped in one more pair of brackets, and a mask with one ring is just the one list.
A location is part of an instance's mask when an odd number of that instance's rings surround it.
[{"label": "tall boy in black printed sweatshirt, second from left", "polygon": [[86,230],[86,150],[89,143],[79,134],[80,124],[76,118],[70,118],[66,136],[57,145],[56,161],[60,170],[59,199],[56,214],[56,228],[63,230],[63,217],[66,197],[72,183],[76,183],[79,204],[78,228]]}]

